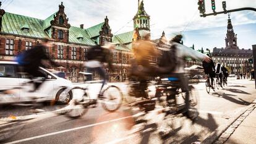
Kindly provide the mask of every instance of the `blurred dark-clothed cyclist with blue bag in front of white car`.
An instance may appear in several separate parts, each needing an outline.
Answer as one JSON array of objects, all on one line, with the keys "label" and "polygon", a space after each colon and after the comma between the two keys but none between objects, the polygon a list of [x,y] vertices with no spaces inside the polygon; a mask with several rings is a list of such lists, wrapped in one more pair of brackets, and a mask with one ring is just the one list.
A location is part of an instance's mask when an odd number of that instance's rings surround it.
[{"label": "blurred dark-clothed cyclist with blue bag in front of white car", "polygon": [[49,61],[51,65],[58,66],[54,61],[52,61],[46,55],[46,47],[48,43],[48,39],[43,39],[43,44],[38,44],[34,46],[32,49],[28,49],[27,51],[23,51],[16,57],[16,61],[22,67],[22,71],[30,75],[30,79],[32,80],[35,77],[42,77],[40,82],[33,82],[35,88],[33,91],[36,91],[46,80],[46,75],[42,75],[39,71],[39,67],[46,67],[45,62],[43,60]]}]

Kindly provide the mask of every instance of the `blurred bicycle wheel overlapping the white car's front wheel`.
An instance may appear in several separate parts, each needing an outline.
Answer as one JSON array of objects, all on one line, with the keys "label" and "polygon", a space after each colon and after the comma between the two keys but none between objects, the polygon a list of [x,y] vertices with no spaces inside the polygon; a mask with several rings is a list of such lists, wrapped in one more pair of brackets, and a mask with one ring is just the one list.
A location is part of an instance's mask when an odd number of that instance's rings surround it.
[{"label": "blurred bicycle wheel overlapping the white car's front wheel", "polygon": [[[80,100],[71,100],[70,104],[66,106],[66,108],[61,109],[61,112],[67,117],[76,119],[82,117],[88,112],[87,107],[90,103],[90,97],[83,88],[76,87],[72,88],[71,90],[75,90],[74,95],[82,95],[82,98],[80,98]],[[70,91],[70,89],[68,91]],[[66,95],[68,91],[65,90],[63,93],[61,93],[61,95]]]}]

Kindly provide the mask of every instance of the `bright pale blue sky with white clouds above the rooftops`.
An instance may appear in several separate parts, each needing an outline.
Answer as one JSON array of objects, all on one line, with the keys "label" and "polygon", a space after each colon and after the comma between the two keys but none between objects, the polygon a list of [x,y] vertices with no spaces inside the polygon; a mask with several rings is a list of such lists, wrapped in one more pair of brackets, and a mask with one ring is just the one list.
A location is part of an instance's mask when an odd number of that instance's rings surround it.
[{"label": "bright pale blue sky with white clouds above the rooftops", "polygon": [[[72,26],[85,28],[104,22],[108,15],[114,35],[132,31],[137,0],[2,0],[6,12],[46,19],[58,11],[63,2]],[[221,1],[216,1],[216,11],[222,11]],[[210,0],[205,0],[206,13],[211,12]],[[226,0],[227,9],[255,7],[256,0]],[[164,31],[171,39],[177,33],[184,35],[184,44],[196,49],[224,48],[228,14],[200,17],[197,0],[144,0],[145,11],[150,15],[151,38],[160,38]],[[231,13],[239,48],[249,49],[256,44],[256,12]]]}]

